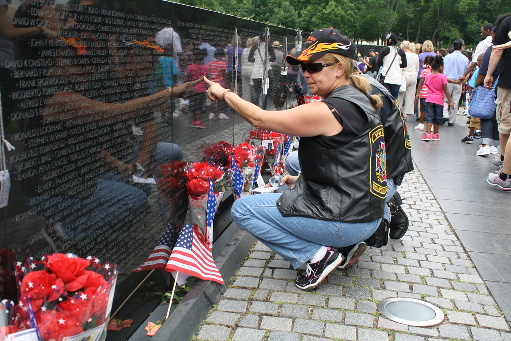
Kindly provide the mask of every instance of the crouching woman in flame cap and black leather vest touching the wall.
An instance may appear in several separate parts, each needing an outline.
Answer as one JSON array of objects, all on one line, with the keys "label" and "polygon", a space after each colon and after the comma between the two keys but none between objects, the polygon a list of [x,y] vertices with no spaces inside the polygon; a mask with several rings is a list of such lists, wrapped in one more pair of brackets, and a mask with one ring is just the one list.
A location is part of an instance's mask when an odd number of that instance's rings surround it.
[{"label": "crouching woman in flame cap and black leather vest touching the wall", "polygon": [[304,290],[317,287],[342,261],[337,247],[371,236],[383,215],[386,194],[382,102],[369,83],[353,76],[355,46],[334,29],[315,31],[304,51],[287,56],[301,65],[311,92],[324,98],[289,110],[262,110],[220,85],[211,100],[223,99],[256,127],[299,136],[299,176],[284,176],[289,190],[236,200],[234,222],[297,268]]}]

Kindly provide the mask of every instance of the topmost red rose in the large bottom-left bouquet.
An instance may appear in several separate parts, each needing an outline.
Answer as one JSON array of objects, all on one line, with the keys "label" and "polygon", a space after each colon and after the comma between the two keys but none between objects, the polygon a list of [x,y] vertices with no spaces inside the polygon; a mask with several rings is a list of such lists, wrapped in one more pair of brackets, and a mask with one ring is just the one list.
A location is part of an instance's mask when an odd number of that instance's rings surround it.
[{"label": "topmost red rose in the large bottom-left bouquet", "polygon": [[90,261],[80,257],[69,257],[64,254],[53,254],[48,256],[44,264],[66,284],[66,289],[76,291],[83,287],[87,276],[85,268]]}]

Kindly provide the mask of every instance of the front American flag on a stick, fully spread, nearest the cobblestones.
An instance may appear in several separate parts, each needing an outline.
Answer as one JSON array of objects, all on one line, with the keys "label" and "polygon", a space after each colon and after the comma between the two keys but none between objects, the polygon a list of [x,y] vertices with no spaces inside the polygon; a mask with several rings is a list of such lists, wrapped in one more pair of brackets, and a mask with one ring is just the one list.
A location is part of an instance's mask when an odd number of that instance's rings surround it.
[{"label": "front American flag on a stick, fully spread, nearest the cobblestones", "polygon": [[213,261],[211,247],[205,245],[204,236],[190,223],[184,224],[179,232],[179,238],[165,269],[224,284]]}]

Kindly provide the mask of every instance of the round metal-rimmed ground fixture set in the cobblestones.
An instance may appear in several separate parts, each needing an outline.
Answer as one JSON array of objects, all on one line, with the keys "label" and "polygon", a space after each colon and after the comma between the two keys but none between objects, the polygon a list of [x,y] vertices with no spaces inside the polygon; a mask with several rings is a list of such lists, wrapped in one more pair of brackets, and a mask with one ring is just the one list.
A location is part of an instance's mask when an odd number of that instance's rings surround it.
[{"label": "round metal-rimmed ground fixture set in the cobblestones", "polygon": [[388,319],[409,326],[425,327],[444,321],[444,313],[437,306],[406,297],[394,297],[378,303],[380,311]]}]

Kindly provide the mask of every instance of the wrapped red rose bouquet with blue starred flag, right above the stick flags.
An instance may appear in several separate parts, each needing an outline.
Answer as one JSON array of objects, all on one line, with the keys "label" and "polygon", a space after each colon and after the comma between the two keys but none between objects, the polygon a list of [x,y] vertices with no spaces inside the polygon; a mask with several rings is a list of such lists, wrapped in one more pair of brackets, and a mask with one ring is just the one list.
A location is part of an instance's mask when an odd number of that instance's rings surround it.
[{"label": "wrapped red rose bouquet with blue starred flag, right above the stick flags", "polygon": [[225,189],[230,184],[231,172],[220,166],[203,162],[187,165],[187,193],[190,219],[205,236],[206,243],[213,244],[213,216],[222,200]]}]

